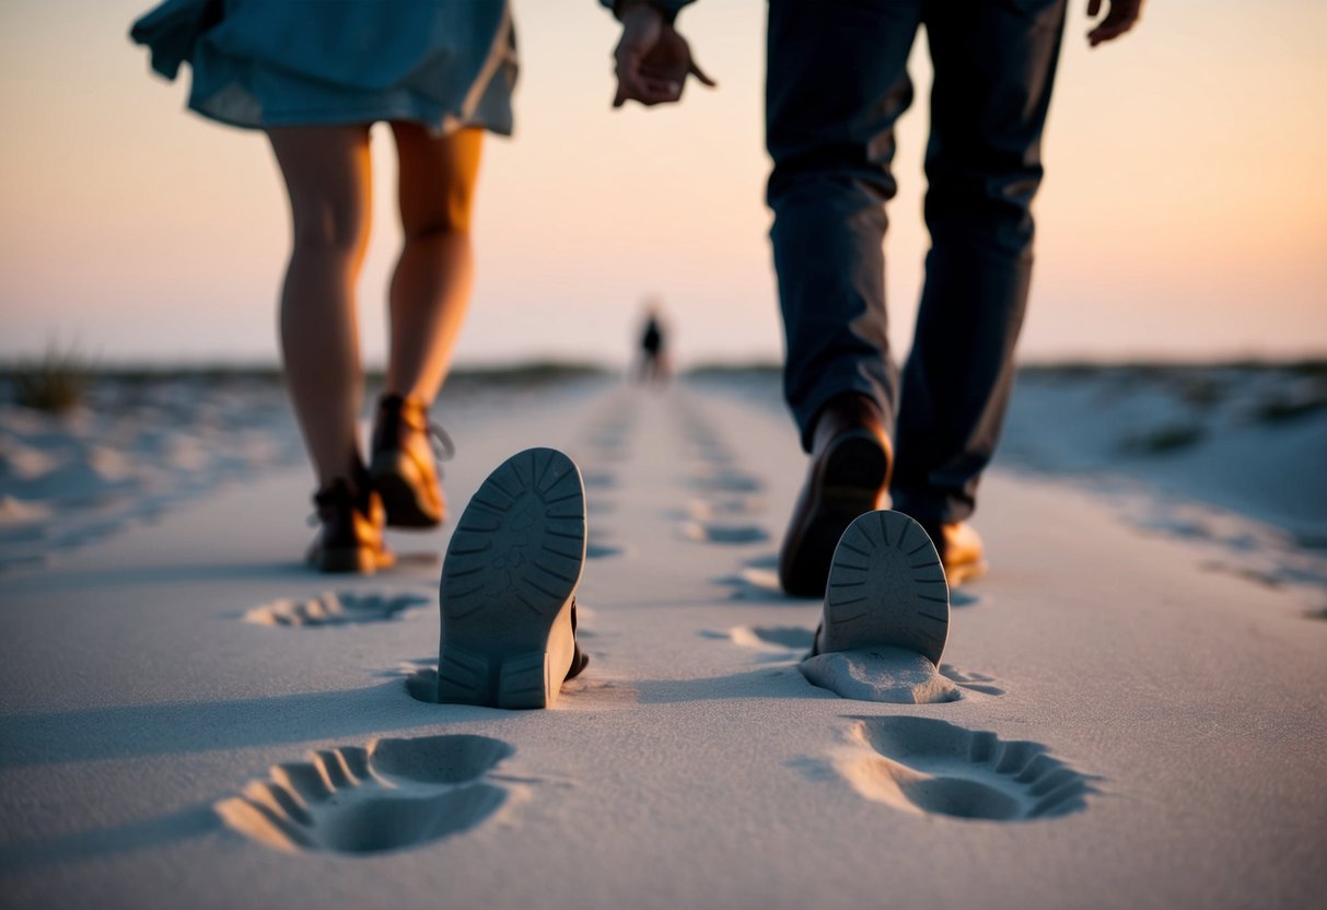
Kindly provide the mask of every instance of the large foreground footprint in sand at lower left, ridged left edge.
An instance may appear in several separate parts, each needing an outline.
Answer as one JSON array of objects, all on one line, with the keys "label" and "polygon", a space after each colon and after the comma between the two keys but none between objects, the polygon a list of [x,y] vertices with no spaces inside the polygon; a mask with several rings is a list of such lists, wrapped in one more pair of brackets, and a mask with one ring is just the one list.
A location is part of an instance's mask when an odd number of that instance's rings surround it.
[{"label": "large foreground footprint in sand at lower left, ridged left edge", "polygon": [[279,850],[382,853],[475,828],[507,801],[484,781],[514,752],[488,736],[380,739],[273,765],[216,804],[234,830]]}]

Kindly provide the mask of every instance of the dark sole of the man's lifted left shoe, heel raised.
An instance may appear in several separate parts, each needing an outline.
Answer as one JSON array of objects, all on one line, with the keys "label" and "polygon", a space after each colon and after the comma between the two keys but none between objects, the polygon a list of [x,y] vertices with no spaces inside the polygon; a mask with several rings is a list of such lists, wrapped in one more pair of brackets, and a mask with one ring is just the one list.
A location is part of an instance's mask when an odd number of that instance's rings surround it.
[{"label": "dark sole of the man's lifted left shoe, heel raised", "polygon": [[823,597],[835,547],[853,519],[878,507],[889,454],[871,432],[845,434],[825,452],[811,488],[811,520],[790,540],[780,584],[795,597]]}]

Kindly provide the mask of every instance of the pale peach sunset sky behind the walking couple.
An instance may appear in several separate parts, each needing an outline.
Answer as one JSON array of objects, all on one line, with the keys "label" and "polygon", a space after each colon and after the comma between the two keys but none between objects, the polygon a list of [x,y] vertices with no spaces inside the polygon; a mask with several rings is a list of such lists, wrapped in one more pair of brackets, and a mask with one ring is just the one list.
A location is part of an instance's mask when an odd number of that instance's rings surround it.
[{"label": "pale peach sunset sky behind the walking couple", "polygon": [[[126,0],[0,4],[0,359],[275,363],[288,253],[260,133],[184,110],[126,37]],[[679,28],[718,80],[681,105],[612,110],[617,25],[594,0],[514,0],[516,135],[484,151],[475,298],[456,362],[626,362],[662,300],[678,359],[782,357],[763,190],[764,4],[699,0]],[[1089,50],[1071,0],[1036,202],[1019,356],[1327,356],[1327,3],[1149,0]],[[898,127],[886,285],[909,346],[929,61]],[[374,130],[361,285],[369,363],[398,252],[390,135]]]}]

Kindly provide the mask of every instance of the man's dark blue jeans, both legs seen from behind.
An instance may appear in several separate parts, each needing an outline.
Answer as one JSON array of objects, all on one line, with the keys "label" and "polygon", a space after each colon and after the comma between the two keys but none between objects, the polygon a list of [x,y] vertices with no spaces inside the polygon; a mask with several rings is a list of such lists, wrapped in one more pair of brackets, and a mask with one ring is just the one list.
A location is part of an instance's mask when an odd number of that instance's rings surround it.
[{"label": "man's dark blue jeans, both legs seen from behind", "polygon": [[[959,521],[1009,405],[1032,268],[1031,203],[1066,0],[770,0],[767,145],[784,394],[808,447],[820,407],[876,399],[894,507]],[[902,374],[885,337],[894,121],[925,24],[932,248]],[[900,394],[901,393],[901,394]]]}]

